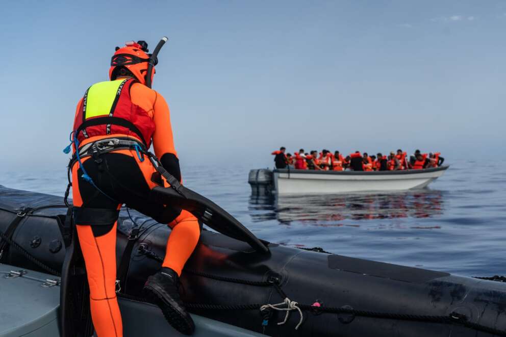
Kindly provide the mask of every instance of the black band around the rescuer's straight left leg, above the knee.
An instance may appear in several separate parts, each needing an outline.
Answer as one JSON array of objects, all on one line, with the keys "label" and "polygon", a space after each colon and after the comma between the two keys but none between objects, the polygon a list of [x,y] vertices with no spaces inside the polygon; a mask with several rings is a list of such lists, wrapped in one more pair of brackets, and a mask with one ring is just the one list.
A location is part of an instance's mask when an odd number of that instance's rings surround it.
[{"label": "black band around the rescuer's straight left leg, above the knee", "polygon": [[73,208],[76,225],[90,225],[93,235],[99,237],[107,234],[118,220],[119,211],[112,209],[92,209],[85,207]]}]

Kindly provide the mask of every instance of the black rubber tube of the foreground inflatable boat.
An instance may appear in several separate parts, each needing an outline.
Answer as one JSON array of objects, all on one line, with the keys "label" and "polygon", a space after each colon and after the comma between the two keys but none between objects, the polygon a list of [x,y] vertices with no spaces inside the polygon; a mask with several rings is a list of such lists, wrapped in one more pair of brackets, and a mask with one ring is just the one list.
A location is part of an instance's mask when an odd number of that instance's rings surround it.
[{"label": "black rubber tube of the foreground inflatable boat", "polygon": [[[59,197],[0,187],[0,230],[7,231],[17,219],[13,240],[46,265],[60,269],[65,252],[58,244],[62,241],[59,227],[66,211],[58,206],[61,204]],[[29,210],[43,205],[55,206]],[[163,256],[170,228],[139,214],[133,214],[133,219],[142,230],[129,241],[135,225],[120,215],[117,260],[120,265],[130,257],[128,272],[120,282],[121,293],[140,296],[146,278],[160,268],[156,258],[142,252]],[[123,256],[129,242],[134,244],[132,253]],[[273,310],[265,317],[258,307],[239,307],[283,302],[272,282],[279,282],[284,294],[301,306],[318,302],[322,307],[376,313],[445,317],[457,313],[469,322],[506,330],[504,283],[276,244],[269,244],[269,248],[270,255],[261,254],[246,243],[204,230],[181,277],[182,298],[190,303],[194,314],[272,336],[492,336],[461,325],[423,319],[373,318],[307,309],[302,311],[302,323],[295,330],[300,320],[296,310],[286,324],[277,325],[284,320],[285,312]],[[5,250],[2,263],[40,270],[14,247]]]}]

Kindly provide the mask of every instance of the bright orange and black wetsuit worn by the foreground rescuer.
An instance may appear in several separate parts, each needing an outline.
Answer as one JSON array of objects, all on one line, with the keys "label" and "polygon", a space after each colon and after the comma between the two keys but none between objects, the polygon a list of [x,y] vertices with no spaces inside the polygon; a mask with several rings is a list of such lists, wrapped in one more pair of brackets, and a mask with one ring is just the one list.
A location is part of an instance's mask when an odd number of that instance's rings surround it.
[{"label": "bright orange and black wetsuit worn by the foreground rescuer", "polygon": [[[170,112],[165,99],[155,90],[140,83],[134,83],[131,86],[130,97],[133,105],[147,113],[156,126],[152,134],[155,154],[167,171],[181,179],[179,161],[172,138]],[[80,108],[82,110],[82,100],[78,104],[76,116]],[[84,139],[80,147],[99,139],[114,137],[139,139],[130,132],[99,135]],[[187,211],[172,209],[170,206],[153,204],[149,201],[151,189],[155,186],[168,186],[168,184],[163,179],[159,181],[153,179],[153,174],[157,172],[156,168],[149,160],[141,161],[135,150],[116,150],[104,153],[100,158],[104,162],[102,165],[107,168],[107,174],[101,173],[103,168],[97,168],[96,161],[94,162],[92,157],[83,158],[82,163],[94,183],[107,194],[107,197],[97,192],[82,178],[80,165],[74,163],[72,166],[73,205],[83,210],[119,210],[125,203],[159,222],[168,223],[172,227],[172,232],[167,242],[162,266],[181,274],[200,235],[198,220]],[[99,337],[122,336],[122,321],[115,293],[117,221],[112,221],[109,226],[76,221],[90,285],[91,314]]]}]

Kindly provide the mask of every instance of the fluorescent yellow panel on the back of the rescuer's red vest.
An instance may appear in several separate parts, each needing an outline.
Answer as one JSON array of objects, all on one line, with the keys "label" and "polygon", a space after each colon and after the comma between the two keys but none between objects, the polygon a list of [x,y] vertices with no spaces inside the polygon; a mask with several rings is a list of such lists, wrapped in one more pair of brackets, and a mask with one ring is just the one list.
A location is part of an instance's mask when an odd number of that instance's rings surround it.
[{"label": "fluorescent yellow panel on the back of the rescuer's red vest", "polygon": [[99,82],[90,87],[86,101],[85,118],[109,116],[116,92],[123,80]]}]

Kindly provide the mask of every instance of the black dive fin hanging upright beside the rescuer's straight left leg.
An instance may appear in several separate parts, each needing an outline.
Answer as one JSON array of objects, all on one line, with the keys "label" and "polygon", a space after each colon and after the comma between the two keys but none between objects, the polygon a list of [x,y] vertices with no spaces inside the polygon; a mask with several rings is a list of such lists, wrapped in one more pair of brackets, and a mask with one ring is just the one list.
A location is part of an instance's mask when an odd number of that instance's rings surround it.
[{"label": "black dive fin hanging upright beside the rescuer's straight left leg", "polygon": [[71,233],[62,266],[60,333],[62,337],[89,337],[93,335],[90,291],[75,226],[72,226]]}]

